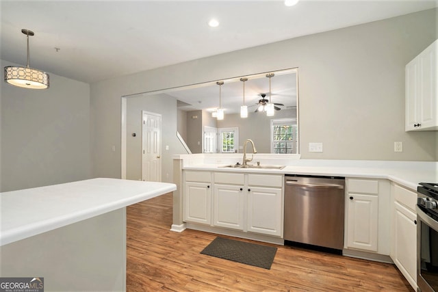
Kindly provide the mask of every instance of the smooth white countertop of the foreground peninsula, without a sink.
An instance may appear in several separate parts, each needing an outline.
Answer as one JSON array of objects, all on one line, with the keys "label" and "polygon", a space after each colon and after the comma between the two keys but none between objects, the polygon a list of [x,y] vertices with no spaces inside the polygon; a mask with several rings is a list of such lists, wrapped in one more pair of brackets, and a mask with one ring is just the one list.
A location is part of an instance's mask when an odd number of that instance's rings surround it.
[{"label": "smooth white countertop of the foreground peninsula, without a sink", "polygon": [[175,191],[172,183],[93,178],[0,193],[0,245]]}]

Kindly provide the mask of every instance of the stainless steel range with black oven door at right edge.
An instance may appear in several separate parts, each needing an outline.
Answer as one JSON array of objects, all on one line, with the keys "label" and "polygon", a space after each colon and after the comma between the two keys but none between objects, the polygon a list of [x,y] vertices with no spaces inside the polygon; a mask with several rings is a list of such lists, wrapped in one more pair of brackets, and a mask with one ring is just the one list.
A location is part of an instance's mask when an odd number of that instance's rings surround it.
[{"label": "stainless steel range with black oven door at right edge", "polygon": [[438,183],[417,188],[418,291],[438,292]]}]

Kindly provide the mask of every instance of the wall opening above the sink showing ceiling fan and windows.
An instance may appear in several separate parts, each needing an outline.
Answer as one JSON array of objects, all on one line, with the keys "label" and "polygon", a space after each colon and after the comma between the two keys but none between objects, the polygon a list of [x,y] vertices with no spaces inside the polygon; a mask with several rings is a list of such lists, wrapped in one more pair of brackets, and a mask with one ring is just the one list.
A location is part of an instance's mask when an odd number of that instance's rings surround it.
[{"label": "wall opening above the sink showing ceiling fan and windows", "polygon": [[[259,153],[297,154],[298,69],[250,75],[247,81],[241,78],[166,92],[178,101],[178,133],[185,144],[192,153],[242,152],[244,141],[251,139]],[[274,116],[263,111],[269,101],[274,103]],[[247,118],[240,117],[244,103]],[[224,109],[223,120],[212,117],[219,106]]]}]

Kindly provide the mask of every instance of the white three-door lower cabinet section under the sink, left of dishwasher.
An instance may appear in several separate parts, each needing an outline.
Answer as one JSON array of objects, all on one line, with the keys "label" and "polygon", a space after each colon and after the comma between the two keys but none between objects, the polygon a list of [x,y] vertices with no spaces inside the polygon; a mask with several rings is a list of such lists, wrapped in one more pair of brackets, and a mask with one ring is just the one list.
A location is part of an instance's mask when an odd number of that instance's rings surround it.
[{"label": "white three-door lower cabinet section under the sink, left of dishwasher", "polygon": [[185,171],[184,221],[281,237],[283,180],[279,174]]}]

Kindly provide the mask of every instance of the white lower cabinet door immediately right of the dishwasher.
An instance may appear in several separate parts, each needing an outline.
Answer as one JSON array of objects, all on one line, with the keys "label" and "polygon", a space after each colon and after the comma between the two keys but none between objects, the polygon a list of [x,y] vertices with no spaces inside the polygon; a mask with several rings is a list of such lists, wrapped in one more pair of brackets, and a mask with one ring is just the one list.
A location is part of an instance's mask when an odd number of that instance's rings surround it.
[{"label": "white lower cabinet door immediately right of the dishwasher", "polygon": [[347,247],[377,252],[378,196],[348,194]]}]

